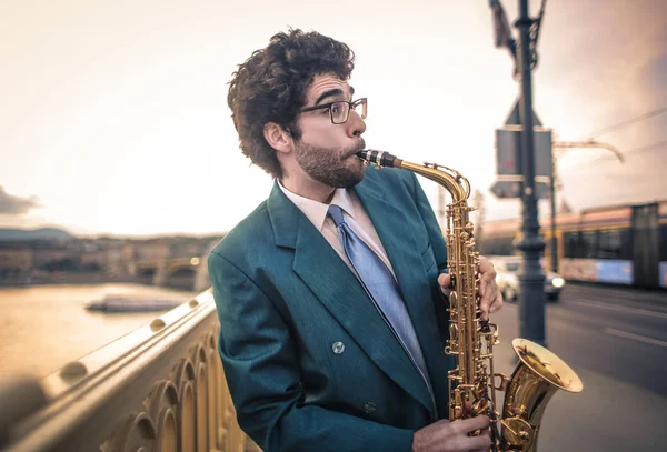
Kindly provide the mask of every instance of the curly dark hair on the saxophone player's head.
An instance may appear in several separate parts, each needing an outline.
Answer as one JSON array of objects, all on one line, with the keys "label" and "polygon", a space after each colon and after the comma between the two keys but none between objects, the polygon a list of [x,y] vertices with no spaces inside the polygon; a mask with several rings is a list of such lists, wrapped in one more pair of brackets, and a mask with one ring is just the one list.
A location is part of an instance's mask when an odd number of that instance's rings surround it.
[{"label": "curly dark hair on the saxophone player's head", "polygon": [[297,110],[305,106],[315,76],[334,73],[348,80],[354,68],[355,53],[342,42],[291,28],[288,33],[275,34],[266,49],[256,50],[239,64],[229,82],[227,104],[243,154],[280,178],[282,171],[265,139],[265,125],[275,122],[299,140]]}]

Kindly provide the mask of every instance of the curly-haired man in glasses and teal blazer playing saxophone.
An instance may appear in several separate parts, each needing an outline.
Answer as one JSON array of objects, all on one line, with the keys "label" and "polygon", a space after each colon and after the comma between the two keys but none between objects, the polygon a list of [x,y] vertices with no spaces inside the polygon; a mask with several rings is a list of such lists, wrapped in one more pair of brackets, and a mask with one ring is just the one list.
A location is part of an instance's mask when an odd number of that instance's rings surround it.
[{"label": "curly-haired man in glasses and teal blazer playing saxophone", "polygon": [[[239,424],[266,452],[488,450],[487,416],[446,421],[446,244],[415,174],[355,155],[352,68],[290,30],[230,82],[240,148],[276,178],[208,259]],[[486,318],[502,300],[480,272]]]}]

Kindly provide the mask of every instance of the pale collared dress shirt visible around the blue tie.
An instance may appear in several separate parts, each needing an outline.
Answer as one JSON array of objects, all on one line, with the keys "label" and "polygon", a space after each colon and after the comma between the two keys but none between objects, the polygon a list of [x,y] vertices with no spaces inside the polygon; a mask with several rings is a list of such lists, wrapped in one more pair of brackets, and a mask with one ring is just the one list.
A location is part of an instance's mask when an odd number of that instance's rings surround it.
[{"label": "pale collared dress shirt visible around the blue tie", "polygon": [[[338,229],[336,224],[334,224],[334,220],[330,217],[327,217],[327,212],[329,211],[329,204],[325,204],[323,202],[315,201],[308,198],[300,197],[296,193],[292,193],[278,181],[278,187],[282,190],[285,195],[295,203],[297,208],[310,222],[317,228],[318,231],[327,239],[327,242],[340,255],[340,259],[355,272],[352,265],[345,254],[345,250],[342,249],[342,244],[340,243],[340,239],[338,238]],[[344,213],[345,221],[350,225],[350,228],[355,231],[359,239],[364,240],[364,242],[370,247],[370,249],[380,257],[382,262],[387,265],[394,279],[396,279],[396,274],[394,273],[394,269],[391,268],[391,263],[387,258],[387,252],[382,247],[382,242],[378,237],[378,233],[368,218],[368,213],[366,213],[366,209],[361,205],[361,202],[357,198],[357,195],[352,191],[348,191],[346,189],[336,189],[334,192],[334,198],[331,199],[331,204],[339,205]]]}]

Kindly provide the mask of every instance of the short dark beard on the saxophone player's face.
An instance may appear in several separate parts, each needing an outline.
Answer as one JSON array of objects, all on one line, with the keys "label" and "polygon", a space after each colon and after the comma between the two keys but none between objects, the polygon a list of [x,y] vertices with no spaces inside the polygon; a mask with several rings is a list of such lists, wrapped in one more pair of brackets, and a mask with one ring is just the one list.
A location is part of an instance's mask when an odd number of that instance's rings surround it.
[{"label": "short dark beard on the saxophone player's face", "polygon": [[364,148],[364,140],[347,149],[318,148],[299,142],[295,151],[297,163],[313,180],[328,187],[349,189],[364,179],[364,162],[354,155]]}]

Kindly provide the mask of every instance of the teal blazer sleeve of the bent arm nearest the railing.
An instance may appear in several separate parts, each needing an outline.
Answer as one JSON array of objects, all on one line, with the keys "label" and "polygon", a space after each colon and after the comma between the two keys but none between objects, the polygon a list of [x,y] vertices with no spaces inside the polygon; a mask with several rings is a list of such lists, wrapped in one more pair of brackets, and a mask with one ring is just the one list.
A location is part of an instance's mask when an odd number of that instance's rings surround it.
[{"label": "teal blazer sleeve of the bent arm nearest the railing", "polygon": [[303,403],[290,328],[237,265],[208,258],[220,319],[219,351],[241,429],[265,452],[409,452],[411,430]]}]

